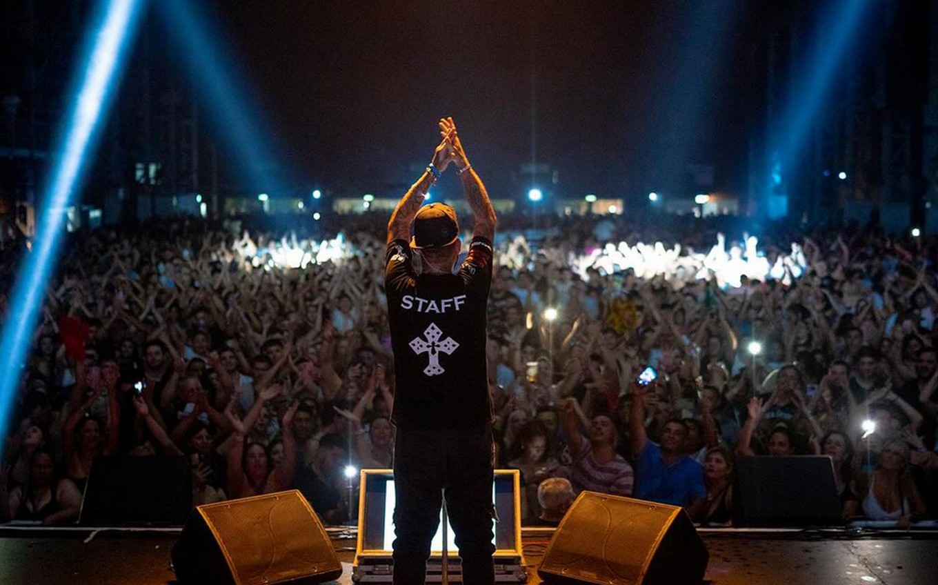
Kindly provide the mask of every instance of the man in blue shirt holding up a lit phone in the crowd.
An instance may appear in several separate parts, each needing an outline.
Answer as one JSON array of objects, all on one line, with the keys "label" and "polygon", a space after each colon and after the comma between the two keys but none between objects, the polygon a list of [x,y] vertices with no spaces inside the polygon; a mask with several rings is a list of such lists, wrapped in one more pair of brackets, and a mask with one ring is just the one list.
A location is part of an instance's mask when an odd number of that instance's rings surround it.
[{"label": "man in blue shirt holding up a lit phone in the crowd", "polygon": [[644,427],[643,396],[655,391],[657,378],[658,372],[648,367],[632,384],[628,421],[637,468],[635,497],[694,510],[694,506],[703,505],[706,486],[701,464],[685,453],[688,428],[684,421],[673,418],[665,423],[660,443],[651,441]]}]

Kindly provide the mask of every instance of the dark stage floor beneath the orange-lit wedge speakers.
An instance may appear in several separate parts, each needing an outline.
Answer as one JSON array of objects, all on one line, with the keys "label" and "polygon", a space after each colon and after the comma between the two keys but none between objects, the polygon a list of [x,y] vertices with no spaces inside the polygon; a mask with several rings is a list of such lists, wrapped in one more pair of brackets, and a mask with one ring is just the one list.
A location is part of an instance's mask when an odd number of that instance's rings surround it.
[{"label": "dark stage floor beneath the orange-lit wedge speakers", "polygon": [[[178,530],[0,527],[0,584],[137,585],[174,583],[170,550]],[[352,583],[355,539],[331,532]],[[930,585],[938,583],[938,532],[701,531],[710,551],[704,583],[759,585]],[[525,534],[528,583],[546,534]]]}]

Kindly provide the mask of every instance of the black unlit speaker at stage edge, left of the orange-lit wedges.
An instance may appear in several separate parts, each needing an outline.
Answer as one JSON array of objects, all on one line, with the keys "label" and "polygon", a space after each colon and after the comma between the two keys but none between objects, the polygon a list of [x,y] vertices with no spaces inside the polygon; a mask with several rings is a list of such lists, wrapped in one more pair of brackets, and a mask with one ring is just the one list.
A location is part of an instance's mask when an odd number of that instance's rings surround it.
[{"label": "black unlit speaker at stage edge, left of the orange-lit wedges", "polygon": [[84,486],[84,526],[182,526],[192,510],[189,459],[100,456]]}]

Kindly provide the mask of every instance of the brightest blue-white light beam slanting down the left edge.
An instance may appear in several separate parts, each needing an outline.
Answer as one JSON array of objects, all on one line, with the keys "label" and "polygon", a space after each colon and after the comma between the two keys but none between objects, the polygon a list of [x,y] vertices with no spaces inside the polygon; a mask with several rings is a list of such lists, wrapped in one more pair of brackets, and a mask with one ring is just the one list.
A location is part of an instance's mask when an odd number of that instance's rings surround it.
[{"label": "brightest blue-white light beam slanting down the left edge", "polygon": [[[66,100],[66,117],[58,130],[52,172],[46,182],[32,251],[9,297],[8,315],[0,343],[0,437],[7,436],[9,405],[17,394],[23,359],[35,333],[39,307],[58,260],[59,240],[66,210],[81,184],[88,155],[98,137],[102,113],[113,98],[119,74],[126,64],[143,0],[101,0],[80,43],[79,58]],[[15,318],[13,317],[15,316]]]}]

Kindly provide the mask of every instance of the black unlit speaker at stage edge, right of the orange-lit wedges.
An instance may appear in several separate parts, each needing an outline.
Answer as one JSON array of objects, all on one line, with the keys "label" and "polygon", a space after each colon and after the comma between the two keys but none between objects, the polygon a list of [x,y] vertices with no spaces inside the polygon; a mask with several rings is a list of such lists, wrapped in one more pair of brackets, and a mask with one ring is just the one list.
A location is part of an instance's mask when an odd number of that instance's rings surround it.
[{"label": "black unlit speaker at stage edge, right of the orange-lit wedges", "polygon": [[836,526],[843,506],[826,455],[736,458],[735,526]]}]

